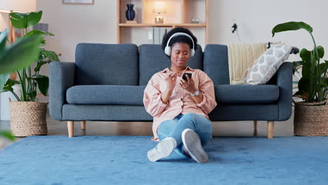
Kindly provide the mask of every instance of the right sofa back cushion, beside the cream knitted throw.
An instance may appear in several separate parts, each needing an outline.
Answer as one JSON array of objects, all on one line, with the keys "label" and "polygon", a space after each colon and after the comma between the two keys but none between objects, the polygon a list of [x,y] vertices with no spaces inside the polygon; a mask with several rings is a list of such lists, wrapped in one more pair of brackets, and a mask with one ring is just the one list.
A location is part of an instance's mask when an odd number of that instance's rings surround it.
[{"label": "right sofa back cushion, beside the cream knitted throw", "polygon": [[207,44],[204,50],[204,72],[214,85],[229,84],[228,46]]}]

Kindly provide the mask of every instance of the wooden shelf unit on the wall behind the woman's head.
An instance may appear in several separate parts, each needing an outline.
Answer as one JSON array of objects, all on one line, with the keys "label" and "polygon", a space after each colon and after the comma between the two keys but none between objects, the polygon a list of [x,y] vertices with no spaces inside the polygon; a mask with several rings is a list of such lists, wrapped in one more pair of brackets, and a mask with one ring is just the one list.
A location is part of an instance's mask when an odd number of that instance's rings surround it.
[{"label": "wooden shelf unit on the wall behind the woman's head", "polygon": [[[158,0],[116,0],[117,1],[117,43],[142,44],[148,41],[151,27],[158,29],[165,27],[186,27],[191,29],[198,37],[198,43],[208,43],[208,16],[210,0],[165,0],[166,12],[161,16],[164,23],[155,23],[158,14],[153,13],[154,2]],[[134,4],[135,21],[138,23],[125,23],[126,4]],[[200,23],[190,23],[198,18]],[[170,23],[168,23],[170,22]],[[148,30],[145,28],[149,28]],[[147,31],[146,31],[147,30]],[[154,32],[154,31],[153,31]],[[165,29],[166,32],[166,29]],[[204,38],[204,39],[200,39]],[[203,41],[203,43],[202,43]]]}]

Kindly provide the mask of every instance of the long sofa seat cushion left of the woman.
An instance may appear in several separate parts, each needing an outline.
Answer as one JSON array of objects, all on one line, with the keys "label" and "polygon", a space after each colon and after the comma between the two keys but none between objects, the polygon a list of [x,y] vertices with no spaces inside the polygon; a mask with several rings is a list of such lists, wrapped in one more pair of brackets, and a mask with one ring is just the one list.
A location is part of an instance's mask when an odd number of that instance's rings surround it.
[{"label": "long sofa seat cushion left of the woman", "polygon": [[139,85],[76,85],[67,90],[69,104],[144,105],[144,89]]}]

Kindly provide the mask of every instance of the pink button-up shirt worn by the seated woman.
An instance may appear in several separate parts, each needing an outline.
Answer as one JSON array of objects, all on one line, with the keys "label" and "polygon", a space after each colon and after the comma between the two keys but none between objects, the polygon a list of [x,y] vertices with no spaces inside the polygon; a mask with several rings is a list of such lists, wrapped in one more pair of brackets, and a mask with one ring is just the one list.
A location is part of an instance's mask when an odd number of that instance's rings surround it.
[{"label": "pink button-up shirt worn by the seated woman", "polygon": [[146,108],[146,111],[153,116],[153,140],[158,140],[157,129],[163,121],[172,120],[180,113],[200,114],[210,120],[207,114],[210,114],[210,112],[217,106],[212,80],[204,71],[201,71],[200,69],[191,69],[191,67],[186,67],[184,72],[192,74],[191,78],[193,79],[196,88],[198,88],[199,93],[203,95],[203,101],[196,104],[190,93],[180,87],[179,81],[182,77],[177,76],[175,89],[173,90],[168,102],[164,104],[160,95],[167,89],[165,77],[172,72],[173,71],[169,68],[166,68],[163,71],[154,74],[151,76],[151,79],[144,90],[144,107]]}]

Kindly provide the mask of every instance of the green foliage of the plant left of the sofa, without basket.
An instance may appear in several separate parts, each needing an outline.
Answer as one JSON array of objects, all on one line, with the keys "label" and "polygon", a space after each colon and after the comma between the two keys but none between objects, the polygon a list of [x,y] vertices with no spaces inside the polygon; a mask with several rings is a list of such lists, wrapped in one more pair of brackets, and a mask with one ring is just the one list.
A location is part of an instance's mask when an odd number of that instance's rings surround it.
[{"label": "green foliage of the plant left of the sofa, without basket", "polygon": [[[29,39],[32,36],[45,36],[50,34],[48,32],[41,32],[39,30],[32,30],[27,32],[29,27],[32,27],[39,23],[42,17],[42,11],[32,12],[32,13],[11,13],[11,23],[13,27],[17,29],[24,29],[27,34],[23,36],[22,39]],[[49,88],[49,78],[48,76],[39,74],[43,64],[48,64],[52,61],[60,61],[56,53],[51,50],[45,50],[46,41],[41,39],[39,42],[39,56],[34,59],[36,62],[36,67],[34,67],[34,72],[31,69],[31,64],[25,65],[25,67],[17,69],[17,74],[19,81],[14,81],[10,78],[7,78],[6,84],[0,92],[10,91],[16,97],[18,101],[29,102],[36,100],[36,87],[39,87],[40,92],[43,95],[47,95]],[[18,53],[16,53],[17,55]],[[25,60],[25,59],[23,59]],[[0,71],[1,72],[1,71]],[[6,76],[5,76],[6,77]],[[13,85],[20,84],[20,97],[16,95],[13,91]]]}]

